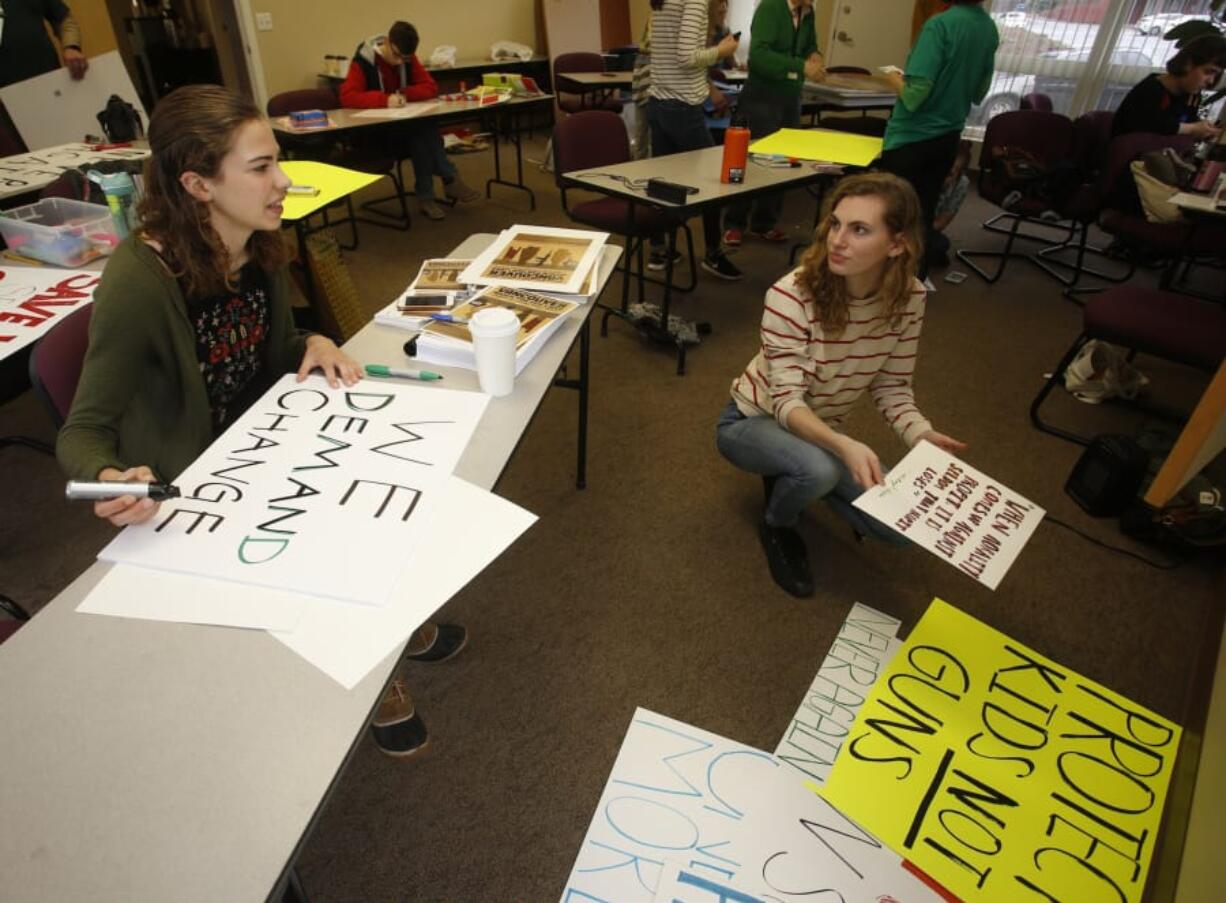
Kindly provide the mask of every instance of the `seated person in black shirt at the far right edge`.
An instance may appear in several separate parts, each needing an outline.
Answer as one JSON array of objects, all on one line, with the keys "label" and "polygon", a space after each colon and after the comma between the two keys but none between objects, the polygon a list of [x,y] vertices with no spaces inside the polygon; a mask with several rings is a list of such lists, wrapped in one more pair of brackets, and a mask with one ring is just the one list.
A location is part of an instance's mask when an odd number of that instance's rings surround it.
[{"label": "seated person in black shirt at the far right edge", "polygon": [[1226,66],[1226,38],[1204,34],[1166,61],[1166,72],[1133,86],[1116,110],[1111,137],[1133,132],[1192,135],[1216,140],[1221,130],[1200,119],[1200,92],[1211,88]]}]

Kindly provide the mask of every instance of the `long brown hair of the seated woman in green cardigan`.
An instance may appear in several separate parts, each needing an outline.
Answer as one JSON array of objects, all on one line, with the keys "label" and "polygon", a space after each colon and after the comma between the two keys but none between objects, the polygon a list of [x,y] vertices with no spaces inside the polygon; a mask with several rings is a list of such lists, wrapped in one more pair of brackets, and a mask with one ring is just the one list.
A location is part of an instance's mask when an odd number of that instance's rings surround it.
[{"label": "long brown hair of the seated woman in green cardigan", "polygon": [[[188,194],[179,176],[188,172],[217,178],[234,135],[264,119],[248,98],[216,85],[189,85],[167,94],[150,118],[152,156],[145,162],[141,234],[162,245],[162,257],[188,298],[232,288],[229,252],[208,222],[208,205]],[[278,232],[255,232],[248,244],[254,263],[273,271],[286,262]]]}]

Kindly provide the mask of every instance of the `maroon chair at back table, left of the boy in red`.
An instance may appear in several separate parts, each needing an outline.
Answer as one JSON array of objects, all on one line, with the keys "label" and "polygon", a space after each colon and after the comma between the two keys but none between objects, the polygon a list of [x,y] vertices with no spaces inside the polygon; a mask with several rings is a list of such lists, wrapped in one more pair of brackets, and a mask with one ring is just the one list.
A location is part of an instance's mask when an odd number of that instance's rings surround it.
[{"label": "maroon chair at back table, left of the boy in red", "polygon": [[[304,88],[300,91],[284,91],[268,99],[267,113],[270,116],[288,116],[291,113],[300,110],[335,110],[340,107],[336,94],[330,88]],[[381,225],[386,229],[407,229],[412,222],[408,214],[408,203],[405,200],[405,174],[401,172],[402,159],[392,154],[380,153],[378,148],[362,145],[338,143],[331,135],[303,135],[294,138],[291,149],[295,157],[302,159],[331,163],[347,169],[356,169],[359,173],[373,175],[386,175],[391,179],[396,191],[387,197],[365,201],[362,208],[386,219],[363,219],[371,225]],[[400,214],[384,213],[379,205],[396,201],[400,205]],[[346,250],[358,246],[358,217],[353,212],[353,197],[346,196],[345,206],[347,216],[341,223],[349,223],[352,234],[351,243],[345,245]],[[327,208],[324,211],[324,228],[329,223]]]}]

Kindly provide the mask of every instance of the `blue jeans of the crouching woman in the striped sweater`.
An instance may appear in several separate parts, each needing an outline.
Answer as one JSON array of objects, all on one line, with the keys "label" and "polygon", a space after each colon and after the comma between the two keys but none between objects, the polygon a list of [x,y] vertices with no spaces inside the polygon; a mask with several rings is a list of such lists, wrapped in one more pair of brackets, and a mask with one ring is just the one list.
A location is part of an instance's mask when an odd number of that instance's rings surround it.
[{"label": "blue jeans of the crouching woman in the striped sweater", "polygon": [[891,545],[907,543],[897,531],[852,507],[864,490],[837,455],[792,435],[774,417],[745,417],[729,401],[716,424],[715,445],[742,470],[775,477],[765,516],[771,527],[794,527],[804,508],[825,499],[858,533]]}]

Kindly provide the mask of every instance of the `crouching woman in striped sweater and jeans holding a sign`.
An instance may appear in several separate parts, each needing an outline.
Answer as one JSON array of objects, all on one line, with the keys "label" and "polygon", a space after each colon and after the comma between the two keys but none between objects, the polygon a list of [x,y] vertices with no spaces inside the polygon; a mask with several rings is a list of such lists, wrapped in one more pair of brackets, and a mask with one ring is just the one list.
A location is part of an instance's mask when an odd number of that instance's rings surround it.
[{"label": "crouching woman in striped sweater and jeans holding a sign", "polygon": [[716,445],[736,467],[761,474],[759,538],[771,576],[793,595],[813,593],[796,523],[818,499],[861,537],[905,542],[851,505],[884,473],[877,452],[837,429],[864,392],[908,447],[966,447],[932,428],[911,390],[924,312],[915,276],[922,235],[920,200],[899,176],[840,181],[799,267],[766,293],[761,350],[732,382]]}]

